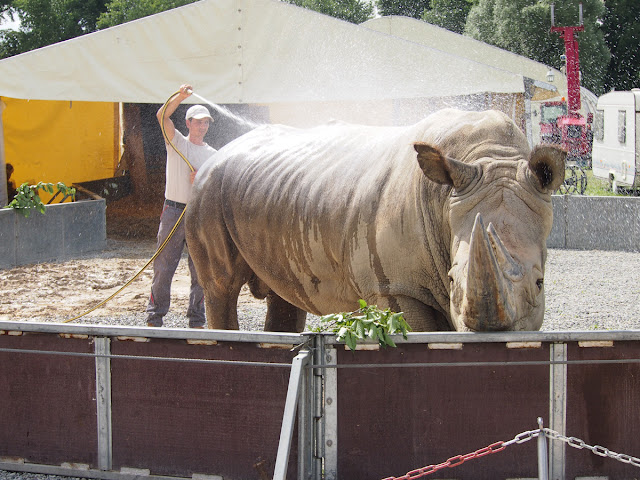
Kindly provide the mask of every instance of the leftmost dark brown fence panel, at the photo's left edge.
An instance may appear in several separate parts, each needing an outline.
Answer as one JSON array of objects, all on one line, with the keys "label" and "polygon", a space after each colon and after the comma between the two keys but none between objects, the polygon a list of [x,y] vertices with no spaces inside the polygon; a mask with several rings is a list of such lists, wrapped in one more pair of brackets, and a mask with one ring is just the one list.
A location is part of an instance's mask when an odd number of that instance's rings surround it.
[{"label": "leftmost dark brown fence panel, at the photo's left edge", "polygon": [[[0,335],[0,348],[93,353],[91,339]],[[0,456],[97,462],[95,360],[0,352]]]}]

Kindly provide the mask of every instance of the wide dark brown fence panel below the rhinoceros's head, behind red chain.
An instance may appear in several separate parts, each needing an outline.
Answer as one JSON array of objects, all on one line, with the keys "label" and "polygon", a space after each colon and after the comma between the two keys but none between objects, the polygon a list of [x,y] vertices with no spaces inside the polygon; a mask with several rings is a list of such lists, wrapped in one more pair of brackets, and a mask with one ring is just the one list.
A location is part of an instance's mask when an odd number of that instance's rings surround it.
[{"label": "wide dark brown fence panel below the rhinoceros's head, behind red chain", "polygon": [[[549,360],[548,345],[508,349],[504,343],[338,351],[339,365]],[[548,398],[548,365],[339,369],[338,476],[401,476],[511,440],[548,416]],[[461,480],[518,477],[537,477],[535,439],[436,474]]]}]

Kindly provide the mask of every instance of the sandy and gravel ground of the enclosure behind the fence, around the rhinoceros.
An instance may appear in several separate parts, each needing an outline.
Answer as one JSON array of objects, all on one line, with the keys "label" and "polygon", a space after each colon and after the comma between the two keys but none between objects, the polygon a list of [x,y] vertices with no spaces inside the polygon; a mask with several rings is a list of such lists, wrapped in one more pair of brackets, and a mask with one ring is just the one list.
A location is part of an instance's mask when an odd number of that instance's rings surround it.
[{"label": "sandy and gravel ground of the enclosure behind the fence, around the rhinoceros", "polygon": [[[98,253],[62,263],[0,270],[0,318],[63,322],[104,300],[155,251],[153,240],[109,239]],[[144,326],[152,272],[75,323]],[[640,329],[640,252],[549,249],[543,331]],[[183,328],[188,292],[186,255],[178,267],[166,327]],[[262,330],[266,305],[245,287],[239,298],[242,330]],[[308,315],[307,325],[319,323]]]}]

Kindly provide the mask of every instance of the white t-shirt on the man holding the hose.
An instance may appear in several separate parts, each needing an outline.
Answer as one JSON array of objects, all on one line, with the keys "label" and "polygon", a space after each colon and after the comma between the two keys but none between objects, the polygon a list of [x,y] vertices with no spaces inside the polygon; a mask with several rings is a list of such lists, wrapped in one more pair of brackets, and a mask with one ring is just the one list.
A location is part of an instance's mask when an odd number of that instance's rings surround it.
[{"label": "white t-shirt on the man holding the hose", "polygon": [[[182,135],[178,130],[175,131],[172,143],[187,157],[187,160],[189,160],[189,163],[196,171],[217,151],[206,143],[204,145],[191,143],[187,137]],[[191,195],[191,170],[171,145],[166,145],[166,147],[167,178],[165,180],[164,196],[167,200],[187,203]]]}]

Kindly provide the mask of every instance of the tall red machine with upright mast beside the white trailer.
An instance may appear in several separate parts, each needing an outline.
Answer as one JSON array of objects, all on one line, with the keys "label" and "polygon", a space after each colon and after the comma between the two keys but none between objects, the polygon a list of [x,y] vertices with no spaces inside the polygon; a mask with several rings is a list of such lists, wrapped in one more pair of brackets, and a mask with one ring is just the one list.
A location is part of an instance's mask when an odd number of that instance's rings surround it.
[{"label": "tall red machine with upright mast beside the white trailer", "polygon": [[584,31],[582,3],[580,4],[580,25],[576,27],[556,27],[554,6],[551,5],[551,32],[559,33],[564,39],[568,102],[563,98],[561,101],[542,104],[540,134],[542,143],[562,146],[568,153],[568,161],[582,167],[590,167],[593,115],[589,114],[585,119],[580,114],[580,59],[578,40],[575,37],[575,32],[582,31]]}]

